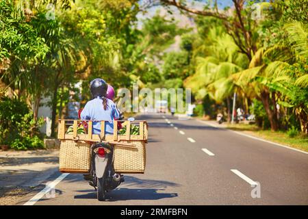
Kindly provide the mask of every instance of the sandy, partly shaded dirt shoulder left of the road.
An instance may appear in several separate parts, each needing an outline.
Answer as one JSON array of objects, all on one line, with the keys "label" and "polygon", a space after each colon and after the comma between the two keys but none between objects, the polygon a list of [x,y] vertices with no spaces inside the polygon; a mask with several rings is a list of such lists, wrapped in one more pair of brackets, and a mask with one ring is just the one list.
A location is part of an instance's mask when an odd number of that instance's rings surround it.
[{"label": "sandy, partly shaded dirt shoulder left of the road", "polygon": [[58,170],[59,150],[0,151],[0,205],[14,205]]}]

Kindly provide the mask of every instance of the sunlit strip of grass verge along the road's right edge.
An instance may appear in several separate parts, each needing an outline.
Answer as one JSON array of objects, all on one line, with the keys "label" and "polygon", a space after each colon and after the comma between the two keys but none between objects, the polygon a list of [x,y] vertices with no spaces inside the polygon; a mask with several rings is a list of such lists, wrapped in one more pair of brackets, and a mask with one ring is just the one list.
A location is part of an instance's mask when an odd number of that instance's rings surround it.
[{"label": "sunlit strip of grass verge along the road's right edge", "polygon": [[290,138],[285,131],[270,131],[263,130],[257,127],[257,125],[249,124],[228,124],[227,129],[234,131],[243,131],[251,136],[258,138],[263,138],[264,140],[269,140],[271,142],[277,142],[279,144],[284,144],[291,146],[294,149],[300,149],[302,151],[308,152],[308,138],[298,134],[294,138]]}]

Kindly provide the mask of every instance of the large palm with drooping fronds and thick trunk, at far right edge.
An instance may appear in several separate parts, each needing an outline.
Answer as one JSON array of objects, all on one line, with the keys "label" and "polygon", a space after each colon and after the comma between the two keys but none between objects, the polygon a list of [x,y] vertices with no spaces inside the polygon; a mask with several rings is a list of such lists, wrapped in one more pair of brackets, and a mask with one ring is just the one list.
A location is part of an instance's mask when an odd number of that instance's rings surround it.
[{"label": "large palm with drooping fronds and thick trunk, at far right edge", "polygon": [[279,129],[278,101],[285,107],[294,107],[302,131],[307,132],[307,101],[298,102],[294,94],[295,90],[305,90],[308,83],[307,69],[298,71],[303,66],[307,68],[307,28],[295,22],[285,25],[284,29],[287,42],[279,42],[267,49],[262,47],[253,56],[249,68],[232,78],[245,92],[250,90],[251,97],[262,101],[272,131]]}]

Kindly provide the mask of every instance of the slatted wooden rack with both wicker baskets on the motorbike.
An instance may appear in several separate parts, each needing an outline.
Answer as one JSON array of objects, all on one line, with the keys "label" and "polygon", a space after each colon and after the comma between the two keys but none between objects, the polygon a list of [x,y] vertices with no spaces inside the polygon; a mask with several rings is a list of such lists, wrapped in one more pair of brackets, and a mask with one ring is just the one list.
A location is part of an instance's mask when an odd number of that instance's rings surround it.
[{"label": "slatted wooden rack with both wicker baskets on the motorbike", "polygon": [[[146,166],[146,142],[148,125],[146,121],[125,121],[123,125],[130,130],[132,124],[139,125],[140,134],[118,134],[114,121],[114,134],[105,135],[105,121],[101,121],[101,134],[92,134],[92,121],[88,121],[88,133],[77,133],[78,120],[59,120],[58,139],[60,145],[60,171],[87,173],[90,171],[90,144],[103,140],[114,146],[114,169],[119,173],[144,173]],[[73,125],[73,133],[66,133],[66,126]]]}]

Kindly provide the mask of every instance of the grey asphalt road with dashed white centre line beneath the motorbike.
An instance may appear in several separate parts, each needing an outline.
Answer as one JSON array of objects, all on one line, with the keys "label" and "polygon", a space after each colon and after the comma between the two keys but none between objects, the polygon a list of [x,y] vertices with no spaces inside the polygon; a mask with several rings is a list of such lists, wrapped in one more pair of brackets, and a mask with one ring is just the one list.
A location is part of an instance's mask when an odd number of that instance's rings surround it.
[{"label": "grey asphalt road with dashed white centre line beneath the motorbike", "polygon": [[82,175],[70,174],[55,186],[54,198],[42,196],[35,205],[308,205],[308,154],[198,120],[138,119],[149,122],[144,175],[125,175],[109,200],[99,202]]}]

